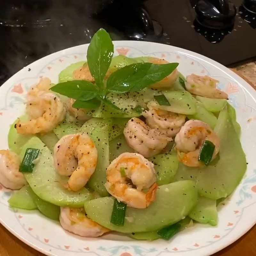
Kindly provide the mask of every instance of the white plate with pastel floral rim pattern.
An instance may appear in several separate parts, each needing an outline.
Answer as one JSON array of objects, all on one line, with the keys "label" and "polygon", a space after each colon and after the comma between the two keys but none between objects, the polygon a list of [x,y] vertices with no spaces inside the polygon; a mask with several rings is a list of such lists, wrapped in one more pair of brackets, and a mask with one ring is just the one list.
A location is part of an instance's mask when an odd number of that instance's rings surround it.
[{"label": "white plate with pastel floral rim pattern", "polygon": [[[65,232],[59,223],[45,218],[37,211],[12,210],[8,198],[13,193],[1,187],[0,222],[15,236],[36,250],[55,256],[169,256],[210,255],[233,243],[255,224],[256,206],[256,92],[228,68],[202,55],[170,45],[149,42],[116,41],[115,54],[128,57],[143,55],[179,62],[183,75],[196,73],[220,80],[220,88],[228,93],[236,108],[242,127],[241,142],[248,168],[236,191],[219,207],[216,227],[196,224],[180,232],[171,241],[147,242],[131,240],[116,234],[100,238],[82,238]],[[88,45],[79,45],[37,60],[12,76],[0,88],[0,148],[7,148],[9,125],[24,111],[24,99],[29,87],[40,76],[57,83],[58,74],[69,64],[85,60]],[[161,209],[159,209],[161,210]]]}]

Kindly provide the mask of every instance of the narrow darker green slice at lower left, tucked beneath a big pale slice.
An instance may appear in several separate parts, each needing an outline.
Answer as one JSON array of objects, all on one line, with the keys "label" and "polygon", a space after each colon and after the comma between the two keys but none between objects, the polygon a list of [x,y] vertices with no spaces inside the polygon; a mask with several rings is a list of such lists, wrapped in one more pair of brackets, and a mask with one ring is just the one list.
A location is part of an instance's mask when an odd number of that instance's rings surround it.
[{"label": "narrow darker green slice at lower left, tucked beneath a big pale slice", "polygon": [[59,220],[60,218],[60,206],[55,204],[51,204],[42,200],[39,196],[37,196],[33,190],[28,186],[28,194],[33,199],[34,203],[37,206],[37,209],[42,212],[46,217],[52,220]]}]

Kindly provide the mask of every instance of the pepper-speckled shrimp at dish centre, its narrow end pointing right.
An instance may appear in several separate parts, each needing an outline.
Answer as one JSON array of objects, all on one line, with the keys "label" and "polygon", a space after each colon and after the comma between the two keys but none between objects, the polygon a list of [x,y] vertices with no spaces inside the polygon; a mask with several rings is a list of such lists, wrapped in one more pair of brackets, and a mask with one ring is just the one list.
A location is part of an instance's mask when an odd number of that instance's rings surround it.
[{"label": "pepper-speckled shrimp at dish centre, its narrow end pointing right", "polygon": [[165,134],[151,129],[137,117],[131,118],[124,128],[124,137],[128,145],[145,157],[158,154],[171,138]]}]

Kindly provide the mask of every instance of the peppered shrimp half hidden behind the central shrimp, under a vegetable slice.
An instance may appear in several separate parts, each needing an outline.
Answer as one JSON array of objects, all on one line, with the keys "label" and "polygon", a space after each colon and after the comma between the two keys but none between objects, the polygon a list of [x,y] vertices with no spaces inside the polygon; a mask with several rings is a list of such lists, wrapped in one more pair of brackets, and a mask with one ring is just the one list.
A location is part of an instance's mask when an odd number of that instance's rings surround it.
[{"label": "peppered shrimp half hidden behind the central shrimp, under a vegetable slice", "polygon": [[156,129],[168,137],[174,137],[180,131],[186,118],[182,114],[155,108],[149,108],[142,115],[146,117],[146,123],[150,128]]}]

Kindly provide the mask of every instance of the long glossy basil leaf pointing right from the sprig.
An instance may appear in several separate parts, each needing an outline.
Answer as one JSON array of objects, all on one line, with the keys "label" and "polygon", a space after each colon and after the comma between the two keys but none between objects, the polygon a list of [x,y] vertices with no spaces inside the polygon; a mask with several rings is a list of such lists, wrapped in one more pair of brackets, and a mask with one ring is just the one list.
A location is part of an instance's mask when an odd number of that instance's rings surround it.
[{"label": "long glossy basil leaf pointing right from the sprig", "polygon": [[107,90],[124,93],[140,91],[170,75],[179,63],[134,63],[112,73],[107,80]]}]

